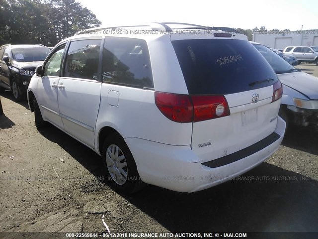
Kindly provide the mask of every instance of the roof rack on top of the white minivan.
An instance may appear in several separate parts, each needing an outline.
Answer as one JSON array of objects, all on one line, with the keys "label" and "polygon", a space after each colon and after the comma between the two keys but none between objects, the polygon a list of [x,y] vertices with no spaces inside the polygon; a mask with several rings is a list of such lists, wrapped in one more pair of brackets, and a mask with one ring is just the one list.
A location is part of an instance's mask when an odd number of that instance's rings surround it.
[{"label": "roof rack on top of the white minivan", "polygon": [[[169,27],[168,25],[184,25],[188,27]],[[182,22],[152,22],[152,23],[145,23],[140,25],[123,25],[123,26],[110,26],[110,27],[94,27],[89,28],[86,30],[78,31],[75,35],[84,34],[86,31],[98,31],[98,30],[106,30],[111,29],[115,30],[118,28],[127,28],[127,27],[144,27],[149,26],[152,28],[152,30],[161,30],[166,32],[171,32],[172,29],[202,29],[202,30],[221,30],[221,31],[228,31],[233,33],[239,33],[237,30],[230,28],[230,27],[211,27],[211,26],[202,26],[202,25],[196,25],[196,24],[190,24],[190,23],[182,23]]]}]

